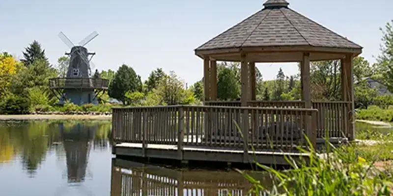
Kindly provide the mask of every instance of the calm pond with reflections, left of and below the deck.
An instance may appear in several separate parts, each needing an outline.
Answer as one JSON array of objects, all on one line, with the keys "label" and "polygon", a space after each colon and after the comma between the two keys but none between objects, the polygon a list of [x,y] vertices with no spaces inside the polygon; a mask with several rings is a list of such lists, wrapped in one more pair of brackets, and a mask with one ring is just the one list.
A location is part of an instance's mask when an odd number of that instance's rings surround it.
[{"label": "calm pond with reflections, left of and below the deck", "polygon": [[0,195],[164,196],[183,187],[187,196],[240,196],[250,188],[237,172],[115,159],[110,129],[110,121],[0,122]]}]

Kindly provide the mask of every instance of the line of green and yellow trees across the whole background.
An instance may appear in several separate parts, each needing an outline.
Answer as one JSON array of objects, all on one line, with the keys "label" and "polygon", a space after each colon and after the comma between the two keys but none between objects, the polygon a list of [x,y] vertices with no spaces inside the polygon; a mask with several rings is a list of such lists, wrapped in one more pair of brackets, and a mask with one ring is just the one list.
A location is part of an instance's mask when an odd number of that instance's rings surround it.
[{"label": "line of green and yellow trees across the whole background", "polygon": [[[364,57],[353,61],[355,104],[367,108],[375,104],[392,105],[391,95],[380,95],[378,88],[371,88],[367,78],[386,86],[393,92],[393,21],[381,28],[381,52],[376,63],[370,64]],[[56,107],[57,99],[49,89],[49,78],[65,77],[69,57],[61,56],[51,65],[45,49],[33,41],[23,51],[24,58],[17,60],[7,52],[0,53],[0,113],[23,114],[43,106]],[[300,65],[298,65],[300,66]],[[300,70],[300,67],[299,67]],[[313,100],[340,100],[340,60],[311,62],[310,80]],[[219,100],[240,98],[239,63],[219,62],[217,65],[217,97]],[[121,65],[117,71],[95,70],[92,77],[109,80],[109,90],[99,101],[105,104],[116,98],[124,105],[176,105],[201,104],[203,78],[190,88],[171,71],[161,68],[152,71],[145,81],[129,65]],[[258,100],[298,100],[301,98],[300,74],[285,75],[280,68],[276,79],[264,81],[256,68],[256,98]]]}]

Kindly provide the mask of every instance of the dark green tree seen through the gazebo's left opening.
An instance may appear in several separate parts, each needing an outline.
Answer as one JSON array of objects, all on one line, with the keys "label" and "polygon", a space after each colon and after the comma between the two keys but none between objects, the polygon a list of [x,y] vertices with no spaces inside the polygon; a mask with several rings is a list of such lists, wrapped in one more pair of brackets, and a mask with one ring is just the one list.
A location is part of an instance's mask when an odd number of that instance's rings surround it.
[{"label": "dark green tree seen through the gazebo's left opening", "polygon": [[236,73],[229,67],[223,67],[218,74],[217,98],[221,100],[235,100],[240,97],[240,84]]}]

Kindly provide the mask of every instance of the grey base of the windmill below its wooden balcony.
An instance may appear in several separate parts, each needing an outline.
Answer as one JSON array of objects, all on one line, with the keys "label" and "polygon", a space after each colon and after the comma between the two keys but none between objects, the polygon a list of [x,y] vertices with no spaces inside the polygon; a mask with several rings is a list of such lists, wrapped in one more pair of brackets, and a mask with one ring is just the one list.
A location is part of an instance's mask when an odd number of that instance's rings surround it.
[{"label": "grey base of the windmill below its wooden balcony", "polygon": [[66,100],[76,105],[94,104],[98,105],[98,99],[94,91],[80,91],[80,90],[64,90],[63,96],[59,100],[59,104],[63,105]]}]

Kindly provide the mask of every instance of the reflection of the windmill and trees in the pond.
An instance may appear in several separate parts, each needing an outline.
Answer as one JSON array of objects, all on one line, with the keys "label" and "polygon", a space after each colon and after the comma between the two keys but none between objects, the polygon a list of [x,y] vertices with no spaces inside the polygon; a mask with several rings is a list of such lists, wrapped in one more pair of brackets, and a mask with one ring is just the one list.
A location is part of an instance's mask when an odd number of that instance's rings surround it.
[{"label": "reflection of the windmill and trees in the pond", "polygon": [[83,182],[90,149],[109,151],[111,123],[29,121],[0,123],[0,166],[21,164],[34,178],[47,156],[65,158],[68,182]]}]

